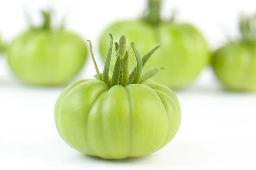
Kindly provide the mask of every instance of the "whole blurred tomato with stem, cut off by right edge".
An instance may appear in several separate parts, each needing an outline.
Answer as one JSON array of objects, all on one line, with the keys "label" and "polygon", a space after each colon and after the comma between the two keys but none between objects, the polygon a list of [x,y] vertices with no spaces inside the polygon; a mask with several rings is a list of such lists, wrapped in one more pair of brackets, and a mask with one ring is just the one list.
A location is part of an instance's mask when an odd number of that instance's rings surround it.
[{"label": "whole blurred tomato with stem, cut off by right edge", "polygon": [[240,38],[218,48],[212,57],[216,78],[230,91],[256,91],[256,15],[241,16]]}]

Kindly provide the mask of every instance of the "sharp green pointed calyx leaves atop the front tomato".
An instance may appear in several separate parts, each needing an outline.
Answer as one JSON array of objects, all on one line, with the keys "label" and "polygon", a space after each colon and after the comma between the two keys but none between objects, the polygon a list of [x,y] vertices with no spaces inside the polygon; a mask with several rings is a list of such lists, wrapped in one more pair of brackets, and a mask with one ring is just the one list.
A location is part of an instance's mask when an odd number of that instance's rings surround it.
[{"label": "sharp green pointed calyx leaves atop the front tomato", "polygon": [[87,40],[90,43],[90,52],[93,59],[94,66],[96,68],[97,72],[97,78],[106,84],[108,84],[110,87],[113,87],[115,85],[122,85],[126,86],[129,84],[139,84],[143,81],[150,79],[151,77],[155,76],[159,73],[163,68],[154,68],[147,73],[145,73],[142,76],[143,72],[143,66],[148,61],[148,59],[152,56],[154,51],[159,48],[159,45],[157,45],[155,48],[153,48],[151,51],[149,51],[143,58],[141,58],[139,52],[137,51],[137,48],[134,45],[134,42],[131,43],[131,47],[133,49],[133,52],[135,54],[135,58],[137,61],[137,66],[134,68],[134,70],[129,74],[129,51],[126,50],[126,38],[124,35],[122,35],[119,39],[119,43],[115,42],[115,50],[116,50],[116,63],[114,66],[113,74],[111,79],[109,78],[109,67],[111,62],[111,54],[112,54],[112,48],[113,48],[113,37],[110,35],[110,46],[108,49],[107,58],[104,65],[103,74],[100,74],[98,66],[96,64],[96,61],[94,59],[93,50],[92,50],[92,44],[90,40]]}]

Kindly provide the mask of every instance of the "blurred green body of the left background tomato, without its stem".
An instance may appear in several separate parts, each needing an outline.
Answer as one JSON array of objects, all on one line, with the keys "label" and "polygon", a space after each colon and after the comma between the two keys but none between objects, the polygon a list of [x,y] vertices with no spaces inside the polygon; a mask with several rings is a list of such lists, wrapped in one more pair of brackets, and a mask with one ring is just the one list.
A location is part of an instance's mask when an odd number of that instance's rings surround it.
[{"label": "blurred green body of the left background tomato, without its stem", "polygon": [[8,49],[13,73],[30,85],[61,85],[72,79],[87,59],[87,46],[66,31],[26,31]]}]

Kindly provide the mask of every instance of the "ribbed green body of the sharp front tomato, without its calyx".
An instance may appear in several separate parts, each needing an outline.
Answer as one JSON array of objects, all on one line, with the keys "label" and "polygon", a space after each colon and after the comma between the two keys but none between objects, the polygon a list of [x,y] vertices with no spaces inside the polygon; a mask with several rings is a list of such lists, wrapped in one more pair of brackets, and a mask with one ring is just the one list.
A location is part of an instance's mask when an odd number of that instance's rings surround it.
[{"label": "ribbed green body of the sharp front tomato, without its calyx", "polygon": [[55,105],[61,138],[81,153],[104,159],[145,156],[168,144],[180,125],[180,103],[151,81],[109,87],[99,80],[69,85]]}]

